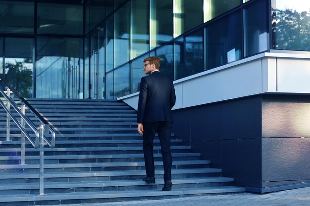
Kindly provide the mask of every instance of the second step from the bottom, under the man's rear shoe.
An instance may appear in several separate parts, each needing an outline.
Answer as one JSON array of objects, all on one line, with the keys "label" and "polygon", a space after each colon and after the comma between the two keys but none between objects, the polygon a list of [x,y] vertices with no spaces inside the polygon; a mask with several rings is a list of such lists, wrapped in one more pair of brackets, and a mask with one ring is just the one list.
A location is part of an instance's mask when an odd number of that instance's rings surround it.
[{"label": "second step from the bottom, under the man's rear shoe", "polygon": [[[230,186],[233,178],[229,177],[202,177],[173,179],[173,190],[179,188],[196,188],[210,186]],[[99,192],[99,191],[133,191],[153,190],[163,187],[164,181],[156,179],[155,184],[148,184],[142,180],[112,180],[88,182],[45,182],[44,193],[70,193],[70,192]],[[0,184],[0,194],[38,194],[38,183]],[[15,193],[14,193],[15,192]]]}]

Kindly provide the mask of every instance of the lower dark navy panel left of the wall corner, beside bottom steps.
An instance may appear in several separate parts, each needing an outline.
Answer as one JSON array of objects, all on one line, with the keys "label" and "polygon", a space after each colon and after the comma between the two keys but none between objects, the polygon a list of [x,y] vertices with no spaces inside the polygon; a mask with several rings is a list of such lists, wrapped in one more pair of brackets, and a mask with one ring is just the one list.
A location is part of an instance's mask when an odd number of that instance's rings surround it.
[{"label": "lower dark navy panel left of the wall corner, beside bottom steps", "polygon": [[235,180],[261,181],[261,139],[222,141],[222,173]]}]

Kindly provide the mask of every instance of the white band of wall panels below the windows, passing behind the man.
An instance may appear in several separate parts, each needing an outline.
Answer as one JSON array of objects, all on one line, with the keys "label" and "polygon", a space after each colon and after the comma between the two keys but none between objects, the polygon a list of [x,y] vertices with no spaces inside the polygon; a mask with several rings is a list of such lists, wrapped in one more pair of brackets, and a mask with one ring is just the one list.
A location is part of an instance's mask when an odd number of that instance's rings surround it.
[{"label": "white band of wall panels below the windows, passing behind the man", "polygon": [[[310,93],[310,55],[266,52],[174,81],[173,109],[267,92]],[[139,92],[118,98],[137,109]]]}]

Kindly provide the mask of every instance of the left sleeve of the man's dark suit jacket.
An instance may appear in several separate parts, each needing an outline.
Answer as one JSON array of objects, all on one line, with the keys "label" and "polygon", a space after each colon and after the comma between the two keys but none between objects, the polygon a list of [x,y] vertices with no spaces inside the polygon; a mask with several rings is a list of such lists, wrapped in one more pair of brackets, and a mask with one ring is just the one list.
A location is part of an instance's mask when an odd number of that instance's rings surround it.
[{"label": "left sleeve of the man's dark suit jacket", "polygon": [[148,96],[148,84],[147,84],[145,78],[141,78],[139,102],[138,102],[137,123],[143,123],[145,108],[146,108],[146,104],[147,104],[147,96]]}]

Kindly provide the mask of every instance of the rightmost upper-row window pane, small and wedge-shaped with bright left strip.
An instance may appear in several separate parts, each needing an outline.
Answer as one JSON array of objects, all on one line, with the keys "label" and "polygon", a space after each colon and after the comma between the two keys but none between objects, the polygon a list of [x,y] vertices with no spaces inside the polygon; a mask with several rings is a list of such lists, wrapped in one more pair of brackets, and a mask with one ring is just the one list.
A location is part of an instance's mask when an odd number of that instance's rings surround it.
[{"label": "rightmost upper-row window pane, small and wedge-shaped with bright left strip", "polygon": [[240,5],[240,0],[204,0],[204,22]]}]

